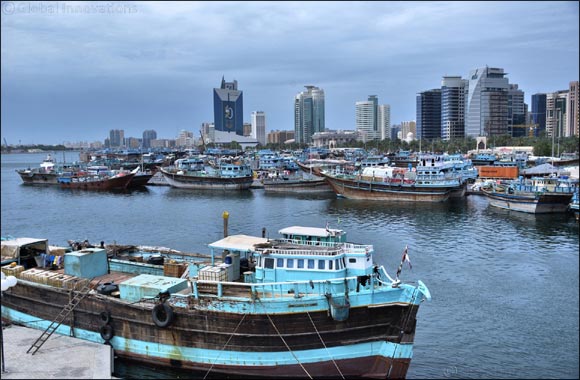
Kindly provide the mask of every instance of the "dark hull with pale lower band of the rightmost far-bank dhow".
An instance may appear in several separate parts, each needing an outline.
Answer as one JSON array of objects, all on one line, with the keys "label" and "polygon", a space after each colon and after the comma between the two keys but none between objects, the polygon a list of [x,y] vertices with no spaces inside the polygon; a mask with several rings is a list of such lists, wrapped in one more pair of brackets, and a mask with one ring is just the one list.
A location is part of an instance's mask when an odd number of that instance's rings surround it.
[{"label": "dark hull with pale lower band of the rightmost far-bank dhow", "polygon": [[572,199],[572,194],[506,194],[482,189],[493,207],[503,208],[530,214],[565,213]]}]

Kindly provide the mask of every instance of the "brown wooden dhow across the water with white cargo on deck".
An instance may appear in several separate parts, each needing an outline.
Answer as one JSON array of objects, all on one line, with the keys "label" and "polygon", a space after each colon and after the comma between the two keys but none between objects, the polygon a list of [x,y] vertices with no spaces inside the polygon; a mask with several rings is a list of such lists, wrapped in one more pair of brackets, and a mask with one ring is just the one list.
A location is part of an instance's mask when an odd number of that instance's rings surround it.
[{"label": "brown wooden dhow across the water with white cargo on deck", "polygon": [[365,168],[358,174],[322,172],[334,192],[349,199],[444,202],[465,195],[465,182],[439,170],[398,167]]}]

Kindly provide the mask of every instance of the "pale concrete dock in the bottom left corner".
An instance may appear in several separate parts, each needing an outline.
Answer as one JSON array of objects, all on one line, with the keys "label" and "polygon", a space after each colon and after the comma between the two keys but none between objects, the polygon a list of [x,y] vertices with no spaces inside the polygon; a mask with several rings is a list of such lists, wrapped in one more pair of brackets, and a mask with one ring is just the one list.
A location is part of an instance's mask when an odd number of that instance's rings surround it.
[{"label": "pale concrete dock in the bottom left corner", "polygon": [[2,379],[112,379],[113,350],[105,344],[53,334],[34,354],[41,330],[8,325],[2,332]]}]

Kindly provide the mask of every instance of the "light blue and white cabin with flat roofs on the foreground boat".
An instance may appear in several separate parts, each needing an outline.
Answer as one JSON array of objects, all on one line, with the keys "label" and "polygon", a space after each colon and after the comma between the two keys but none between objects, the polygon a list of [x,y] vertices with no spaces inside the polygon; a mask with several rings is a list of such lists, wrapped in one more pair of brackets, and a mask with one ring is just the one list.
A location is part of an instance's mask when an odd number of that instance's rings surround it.
[{"label": "light blue and white cabin with flat roofs on the foreground boat", "polygon": [[[283,237],[274,240],[233,235],[209,244],[212,263],[198,269],[198,278],[270,283],[366,276],[373,271],[373,246],[347,243],[342,230],[293,226],[279,233]],[[225,263],[215,265],[220,250]]]}]

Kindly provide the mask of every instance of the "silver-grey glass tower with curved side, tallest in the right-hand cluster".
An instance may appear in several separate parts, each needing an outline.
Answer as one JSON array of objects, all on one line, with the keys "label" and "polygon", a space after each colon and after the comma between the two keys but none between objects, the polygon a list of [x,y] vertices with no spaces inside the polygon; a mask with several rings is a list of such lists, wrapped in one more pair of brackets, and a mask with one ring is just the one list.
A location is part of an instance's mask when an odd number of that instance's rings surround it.
[{"label": "silver-grey glass tower with curved side, tallest in the right-hand cluster", "polygon": [[469,73],[465,136],[508,133],[508,79],[503,69],[483,67]]}]

